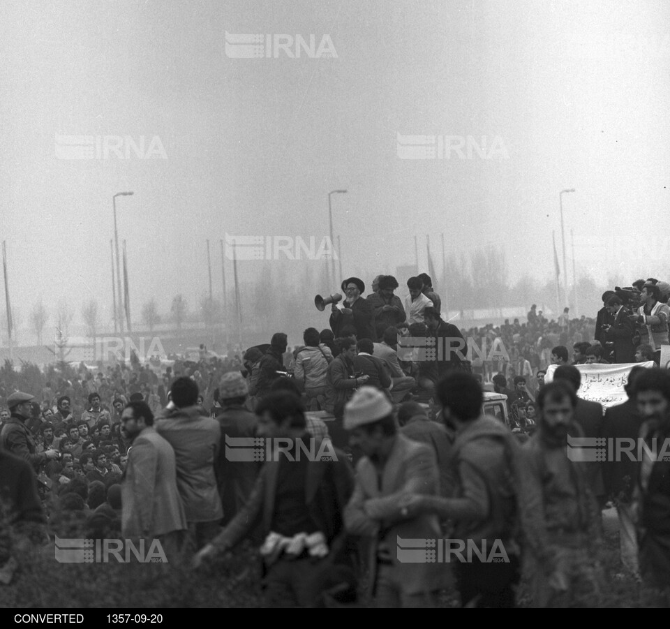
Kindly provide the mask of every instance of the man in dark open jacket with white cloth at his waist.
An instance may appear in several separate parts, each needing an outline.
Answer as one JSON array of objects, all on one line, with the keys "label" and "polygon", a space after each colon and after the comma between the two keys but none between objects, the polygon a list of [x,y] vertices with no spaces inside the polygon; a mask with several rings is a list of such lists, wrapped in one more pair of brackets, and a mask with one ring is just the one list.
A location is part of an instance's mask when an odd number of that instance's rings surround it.
[{"label": "man in dark open jacket with white cloth at his waist", "polygon": [[353,473],[346,455],[327,441],[320,442],[319,452],[329,445],[329,457],[297,455],[299,441],[310,443],[310,436],[295,394],[271,392],[256,413],[259,437],[292,445],[265,462],[244,508],[195,556],[194,564],[232,549],[260,524],[267,607],[314,607],[324,572],[347,561],[343,513]]}]

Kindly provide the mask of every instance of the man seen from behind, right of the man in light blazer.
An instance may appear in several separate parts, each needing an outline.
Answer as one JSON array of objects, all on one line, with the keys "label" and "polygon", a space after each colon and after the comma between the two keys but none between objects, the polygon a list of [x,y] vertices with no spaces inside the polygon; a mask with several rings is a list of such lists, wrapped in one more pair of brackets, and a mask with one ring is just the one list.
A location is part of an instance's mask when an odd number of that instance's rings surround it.
[{"label": "man seen from behind, right of the man in light blazer", "polygon": [[156,432],[174,450],[177,488],[186,511],[189,544],[195,552],[214,538],[223,517],[214,474],[221,427],[216,420],[202,415],[195,380],[177,378],[170,393],[175,408],[156,417]]}]

